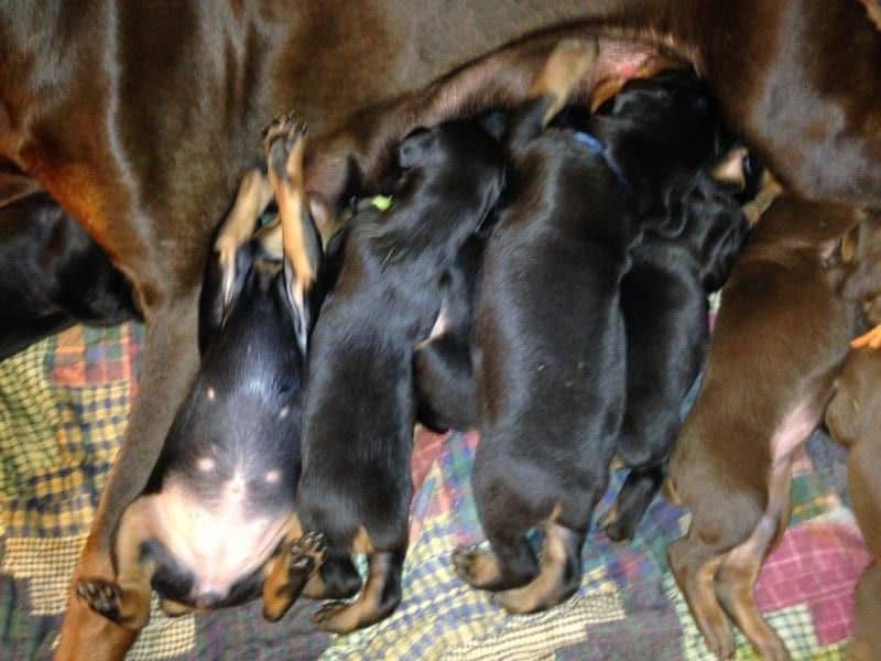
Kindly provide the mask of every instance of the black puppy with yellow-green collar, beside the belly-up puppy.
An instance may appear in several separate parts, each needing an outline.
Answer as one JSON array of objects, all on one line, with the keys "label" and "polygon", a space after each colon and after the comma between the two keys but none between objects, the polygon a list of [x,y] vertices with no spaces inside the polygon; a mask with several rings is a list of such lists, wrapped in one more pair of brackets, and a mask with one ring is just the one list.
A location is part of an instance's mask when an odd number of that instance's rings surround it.
[{"label": "black puppy with yellow-green collar, beside the belly-up puppy", "polygon": [[355,216],[341,270],[315,326],[296,511],[327,543],[306,586],[333,597],[324,576],[351,574],[367,553],[369,577],[352,604],[316,614],[346,632],[389,616],[401,599],[416,419],[412,364],[440,307],[440,278],[488,216],[504,182],[500,143],[477,121],[422,129],[399,149],[402,178],[385,213]]}]

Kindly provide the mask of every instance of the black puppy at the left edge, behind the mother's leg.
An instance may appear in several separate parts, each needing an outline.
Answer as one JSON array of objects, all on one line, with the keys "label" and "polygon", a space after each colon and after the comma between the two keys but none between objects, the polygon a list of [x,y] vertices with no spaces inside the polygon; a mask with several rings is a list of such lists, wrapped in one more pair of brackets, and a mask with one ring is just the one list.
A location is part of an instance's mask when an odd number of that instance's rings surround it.
[{"label": "black puppy at the left edge, behind the mother's leg", "polygon": [[139,316],[107,254],[45,193],[0,207],[0,360],[74,324]]}]

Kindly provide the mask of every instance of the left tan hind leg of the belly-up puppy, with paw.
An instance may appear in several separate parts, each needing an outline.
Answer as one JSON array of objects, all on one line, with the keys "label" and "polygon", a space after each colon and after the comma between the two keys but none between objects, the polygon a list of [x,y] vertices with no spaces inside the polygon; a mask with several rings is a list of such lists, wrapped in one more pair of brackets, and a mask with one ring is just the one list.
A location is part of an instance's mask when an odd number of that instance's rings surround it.
[{"label": "left tan hind leg of the belly-up puppy, with paw", "polygon": [[151,534],[152,497],[135,500],[122,514],[117,532],[117,579],[80,578],[76,596],[94,611],[131,630],[142,629],[150,619],[150,581],[155,568],[142,557],[141,548]]}]

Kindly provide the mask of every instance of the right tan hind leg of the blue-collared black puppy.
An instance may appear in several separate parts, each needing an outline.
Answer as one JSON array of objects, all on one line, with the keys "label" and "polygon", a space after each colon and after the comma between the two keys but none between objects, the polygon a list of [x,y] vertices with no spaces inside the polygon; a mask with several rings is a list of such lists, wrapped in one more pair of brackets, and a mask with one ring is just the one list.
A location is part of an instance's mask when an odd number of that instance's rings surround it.
[{"label": "right tan hind leg of the blue-collared black puppy", "polygon": [[545,610],[568,599],[581,584],[585,532],[548,523],[539,575],[527,585],[500,592],[493,600],[508,613]]}]

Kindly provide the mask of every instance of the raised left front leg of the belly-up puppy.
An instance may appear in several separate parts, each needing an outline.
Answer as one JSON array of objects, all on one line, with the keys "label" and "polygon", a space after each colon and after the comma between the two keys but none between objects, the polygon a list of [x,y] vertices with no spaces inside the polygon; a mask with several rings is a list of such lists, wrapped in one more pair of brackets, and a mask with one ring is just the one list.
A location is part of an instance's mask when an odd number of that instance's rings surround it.
[{"label": "raised left front leg of the belly-up puppy", "polygon": [[260,214],[272,199],[265,175],[251,170],[242,177],[232,208],[217,231],[199,295],[199,351],[219,330],[232,310],[253,264],[250,239]]}]

